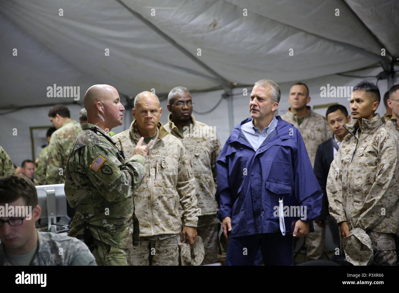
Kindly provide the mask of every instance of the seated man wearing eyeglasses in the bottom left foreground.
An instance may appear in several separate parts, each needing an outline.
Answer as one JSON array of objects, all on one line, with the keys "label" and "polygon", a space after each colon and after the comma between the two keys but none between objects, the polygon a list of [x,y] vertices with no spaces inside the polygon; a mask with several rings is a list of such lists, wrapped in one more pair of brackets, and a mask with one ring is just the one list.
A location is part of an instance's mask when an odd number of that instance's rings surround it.
[{"label": "seated man wearing eyeglasses in the bottom left foreground", "polygon": [[96,265],[77,238],[36,230],[40,213],[32,181],[16,174],[0,178],[0,265]]}]

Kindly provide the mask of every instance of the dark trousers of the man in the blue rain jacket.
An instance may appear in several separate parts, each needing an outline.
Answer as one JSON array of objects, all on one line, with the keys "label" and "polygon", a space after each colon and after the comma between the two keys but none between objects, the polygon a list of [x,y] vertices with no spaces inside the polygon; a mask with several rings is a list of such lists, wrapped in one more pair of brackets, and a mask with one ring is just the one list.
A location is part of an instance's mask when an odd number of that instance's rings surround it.
[{"label": "dark trousers of the man in the blue rain jacket", "polygon": [[294,265],[293,237],[280,232],[230,238],[225,265],[253,265],[259,247],[265,265]]}]

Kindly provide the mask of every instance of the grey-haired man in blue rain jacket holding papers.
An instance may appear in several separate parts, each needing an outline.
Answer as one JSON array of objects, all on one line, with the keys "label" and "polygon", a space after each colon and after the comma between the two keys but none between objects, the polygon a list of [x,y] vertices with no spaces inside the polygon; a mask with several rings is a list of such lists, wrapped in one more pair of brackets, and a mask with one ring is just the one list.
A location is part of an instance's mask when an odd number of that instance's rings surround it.
[{"label": "grey-haired man in blue rain jacket holding papers", "polygon": [[302,136],[274,116],[279,101],[276,83],[257,81],[251,118],[233,129],[216,162],[226,265],[252,265],[259,247],[265,265],[293,265],[292,237],[313,232],[321,212],[323,193]]}]

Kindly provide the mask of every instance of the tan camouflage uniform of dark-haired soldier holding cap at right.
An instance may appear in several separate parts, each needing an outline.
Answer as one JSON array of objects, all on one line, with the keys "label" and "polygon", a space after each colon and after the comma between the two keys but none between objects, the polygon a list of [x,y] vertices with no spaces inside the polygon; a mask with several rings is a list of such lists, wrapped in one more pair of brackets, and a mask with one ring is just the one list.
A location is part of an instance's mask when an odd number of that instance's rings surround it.
[{"label": "tan camouflage uniform of dark-haired soldier holding cap at right", "polygon": [[344,127],[348,134],[336,153],[327,179],[330,214],[348,221],[371,238],[374,262],[395,264],[395,235],[399,232],[399,143],[379,114]]}]

